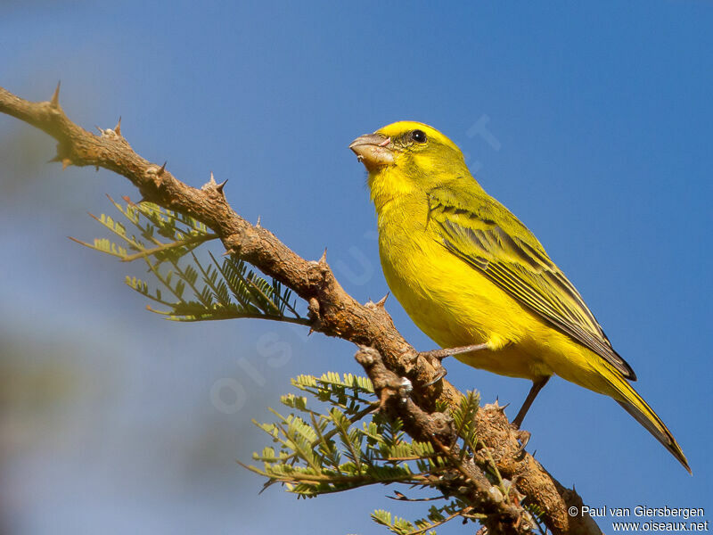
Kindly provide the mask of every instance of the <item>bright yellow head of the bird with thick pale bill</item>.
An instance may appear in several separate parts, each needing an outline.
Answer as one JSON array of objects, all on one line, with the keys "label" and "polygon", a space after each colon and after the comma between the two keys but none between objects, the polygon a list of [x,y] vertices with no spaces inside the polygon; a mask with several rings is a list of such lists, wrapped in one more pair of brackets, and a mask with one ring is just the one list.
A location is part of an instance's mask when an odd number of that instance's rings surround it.
[{"label": "bright yellow head of the bird with thick pale bill", "polygon": [[369,172],[377,210],[399,195],[427,192],[456,177],[470,177],[463,152],[420,122],[399,121],[357,137],[349,148]]}]

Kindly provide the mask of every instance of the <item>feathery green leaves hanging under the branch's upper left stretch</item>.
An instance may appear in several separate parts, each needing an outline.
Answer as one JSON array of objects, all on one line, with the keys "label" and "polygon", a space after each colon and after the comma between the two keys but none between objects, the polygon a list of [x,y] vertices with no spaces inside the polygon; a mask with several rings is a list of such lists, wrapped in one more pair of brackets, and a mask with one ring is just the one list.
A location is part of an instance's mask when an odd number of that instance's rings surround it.
[{"label": "feathery green leaves hanging under the branch's upper left stretch", "polygon": [[258,276],[234,256],[217,259],[208,251],[199,259],[195,251],[217,239],[200,221],[151,202],[109,199],[122,220],[92,217],[111,238],[72,240],[125,262],[143,261],[151,284],[136,276],[127,276],[126,283],[160,305],[148,309],[175,321],[254,317],[309,325],[290,289],[279,281]]}]

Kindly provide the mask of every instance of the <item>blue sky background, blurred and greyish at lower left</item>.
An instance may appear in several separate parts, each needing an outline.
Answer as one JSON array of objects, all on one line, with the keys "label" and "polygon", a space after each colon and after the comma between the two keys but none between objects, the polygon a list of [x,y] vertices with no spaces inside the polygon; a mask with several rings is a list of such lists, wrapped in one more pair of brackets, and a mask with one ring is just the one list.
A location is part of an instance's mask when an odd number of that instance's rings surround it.
[{"label": "blue sky background, blurred and greyish at lower left", "polygon": [[[398,119],[450,136],[578,286],[694,476],[611,399],[561,380],[529,412],[529,449],[588,505],[706,507],[713,519],[713,4],[3,11],[0,85],[45,100],[61,79],[61,103],[84,127],[121,115],[135,150],[168,160],[176,177],[229,178],[236,210],[308,258],[327,247],[360,300],[387,288],[365,171],[348,143]],[[385,503],[389,489],[299,503],[276,487],[258,496],[262,481],[234,464],[264,442],[250,418],[268,417],[291,376],[358,372],[354,347],[283,325],[152,316],[122,286],[140,270],[65,238],[99,232],[86,210],[109,210],[103,193],[135,191],[107,171],[45,165],[52,155],[52,141],[0,117],[0,365],[60,366],[77,387],[31,423],[17,418],[22,447],[0,483],[14,531],[309,533],[319,514],[321,531],[367,533],[378,532],[374,508],[422,512]],[[388,304],[406,338],[431,349]],[[269,360],[274,342],[290,358]],[[518,407],[529,389],[447,368],[485,401]],[[222,379],[250,398],[234,414],[211,403]]]}]

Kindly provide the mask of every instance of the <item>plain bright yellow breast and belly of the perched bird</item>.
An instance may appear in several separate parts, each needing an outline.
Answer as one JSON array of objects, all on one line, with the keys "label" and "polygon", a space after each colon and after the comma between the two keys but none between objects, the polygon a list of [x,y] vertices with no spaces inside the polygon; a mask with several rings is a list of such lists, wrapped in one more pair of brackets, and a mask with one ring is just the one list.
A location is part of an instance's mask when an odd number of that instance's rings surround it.
[{"label": "plain bright yellow breast and belly of the perched bird", "polygon": [[496,374],[541,376],[539,359],[527,350],[531,315],[447,251],[425,210],[419,212],[393,206],[379,218],[381,267],[406,313],[441,347],[490,345],[491,350],[463,355],[466,364]]}]

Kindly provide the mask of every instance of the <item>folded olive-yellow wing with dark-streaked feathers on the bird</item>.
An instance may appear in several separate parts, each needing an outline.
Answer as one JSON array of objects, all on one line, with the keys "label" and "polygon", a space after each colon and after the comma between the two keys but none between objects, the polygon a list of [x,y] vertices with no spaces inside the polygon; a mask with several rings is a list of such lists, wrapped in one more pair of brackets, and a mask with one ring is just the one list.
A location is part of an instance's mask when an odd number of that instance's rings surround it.
[{"label": "folded olive-yellow wing with dark-streaked feathers on the bird", "polygon": [[428,198],[429,225],[437,226],[448,251],[635,381],[634,370],[612,349],[582,296],[518,218],[483,193],[462,188],[440,186]]}]

